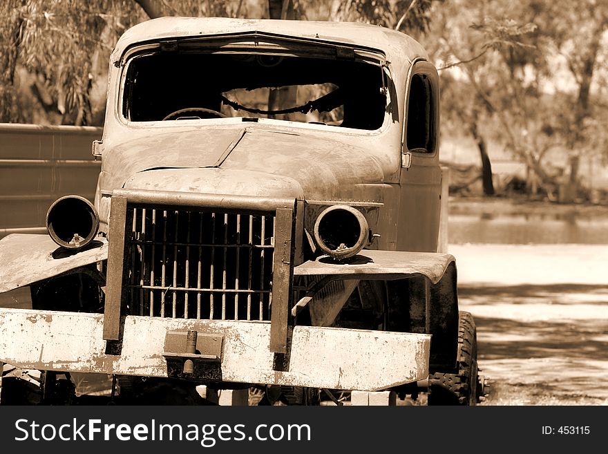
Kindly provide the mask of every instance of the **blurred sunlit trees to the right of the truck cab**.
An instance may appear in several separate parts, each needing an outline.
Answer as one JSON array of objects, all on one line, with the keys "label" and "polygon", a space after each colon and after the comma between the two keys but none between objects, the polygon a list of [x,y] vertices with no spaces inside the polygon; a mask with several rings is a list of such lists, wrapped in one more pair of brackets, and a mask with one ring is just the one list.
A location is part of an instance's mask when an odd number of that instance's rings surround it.
[{"label": "blurred sunlit trees to the right of the truck cab", "polygon": [[447,0],[435,12],[427,37],[446,68],[448,127],[469,131],[482,169],[492,138],[526,164],[530,193],[576,199],[581,157],[607,149],[608,3]]}]

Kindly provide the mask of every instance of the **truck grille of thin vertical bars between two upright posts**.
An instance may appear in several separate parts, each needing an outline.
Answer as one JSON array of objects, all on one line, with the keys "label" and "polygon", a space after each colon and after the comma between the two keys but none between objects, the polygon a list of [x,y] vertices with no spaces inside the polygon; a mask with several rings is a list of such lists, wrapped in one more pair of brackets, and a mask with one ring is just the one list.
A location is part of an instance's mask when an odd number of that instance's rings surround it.
[{"label": "truck grille of thin vertical bars between two upright posts", "polygon": [[[272,214],[131,205],[124,290],[133,315],[270,320]],[[131,218],[131,216],[128,216]]]}]

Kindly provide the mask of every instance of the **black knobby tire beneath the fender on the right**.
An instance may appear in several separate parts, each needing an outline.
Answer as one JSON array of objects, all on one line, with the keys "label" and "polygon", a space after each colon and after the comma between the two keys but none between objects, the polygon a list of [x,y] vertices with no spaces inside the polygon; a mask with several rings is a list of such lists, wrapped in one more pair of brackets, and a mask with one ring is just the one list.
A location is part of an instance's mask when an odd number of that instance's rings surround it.
[{"label": "black knobby tire beneath the fender on the right", "polygon": [[458,372],[429,375],[428,405],[477,405],[477,330],[469,312],[458,315]]}]

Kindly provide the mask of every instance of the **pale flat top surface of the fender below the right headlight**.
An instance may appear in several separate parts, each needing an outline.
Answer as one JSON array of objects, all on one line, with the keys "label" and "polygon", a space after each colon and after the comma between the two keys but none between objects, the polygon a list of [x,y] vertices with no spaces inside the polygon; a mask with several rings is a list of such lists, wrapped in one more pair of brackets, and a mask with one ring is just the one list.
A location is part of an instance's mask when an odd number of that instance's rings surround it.
[{"label": "pale flat top surface of the fender below the right headlight", "polygon": [[395,252],[363,249],[349,263],[322,256],[294,268],[294,276],[336,276],[348,279],[401,279],[426,276],[436,284],[455,258],[433,252]]}]

